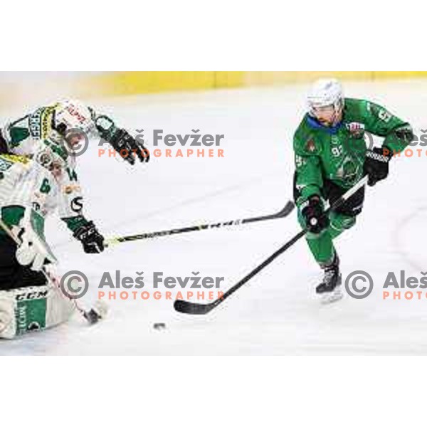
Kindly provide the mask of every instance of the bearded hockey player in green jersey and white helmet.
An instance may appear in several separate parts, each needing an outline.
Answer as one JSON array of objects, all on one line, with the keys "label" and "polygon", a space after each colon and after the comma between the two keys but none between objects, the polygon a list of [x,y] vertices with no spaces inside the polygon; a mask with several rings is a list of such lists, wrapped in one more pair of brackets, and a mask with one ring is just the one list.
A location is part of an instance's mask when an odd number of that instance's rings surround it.
[{"label": "bearded hockey player in green jersey and white helmet", "polygon": [[[330,302],[342,297],[333,240],[356,223],[364,188],[327,216],[325,203],[339,199],[364,175],[369,186],[385,179],[389,161],[413,140],[413,132],[408,122],[381,105],[344,98],[335,79],[317,80],[312,85],[307,108],[293,140],[294,198],[310,251],[325,273],[316,292],[324,302]],[[368,148],[365,134],[383,137],[382,146]]]}]

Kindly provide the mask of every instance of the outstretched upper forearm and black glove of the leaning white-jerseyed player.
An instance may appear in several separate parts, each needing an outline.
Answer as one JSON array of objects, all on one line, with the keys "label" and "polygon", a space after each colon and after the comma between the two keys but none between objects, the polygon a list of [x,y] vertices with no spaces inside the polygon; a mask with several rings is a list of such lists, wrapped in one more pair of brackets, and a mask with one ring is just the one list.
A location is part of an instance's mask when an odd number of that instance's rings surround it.
[{"label": "outstretched upper forearm and black glove of the leaning white-jerseyed player", "polygon": [[126,162],[135,164],[136,158],[140,162],[149,162],[149,152],[144,144],[132,137],[127,130],[115,127],[110,117],[97,117],[95,127],[100,137],[109,142]]}]

